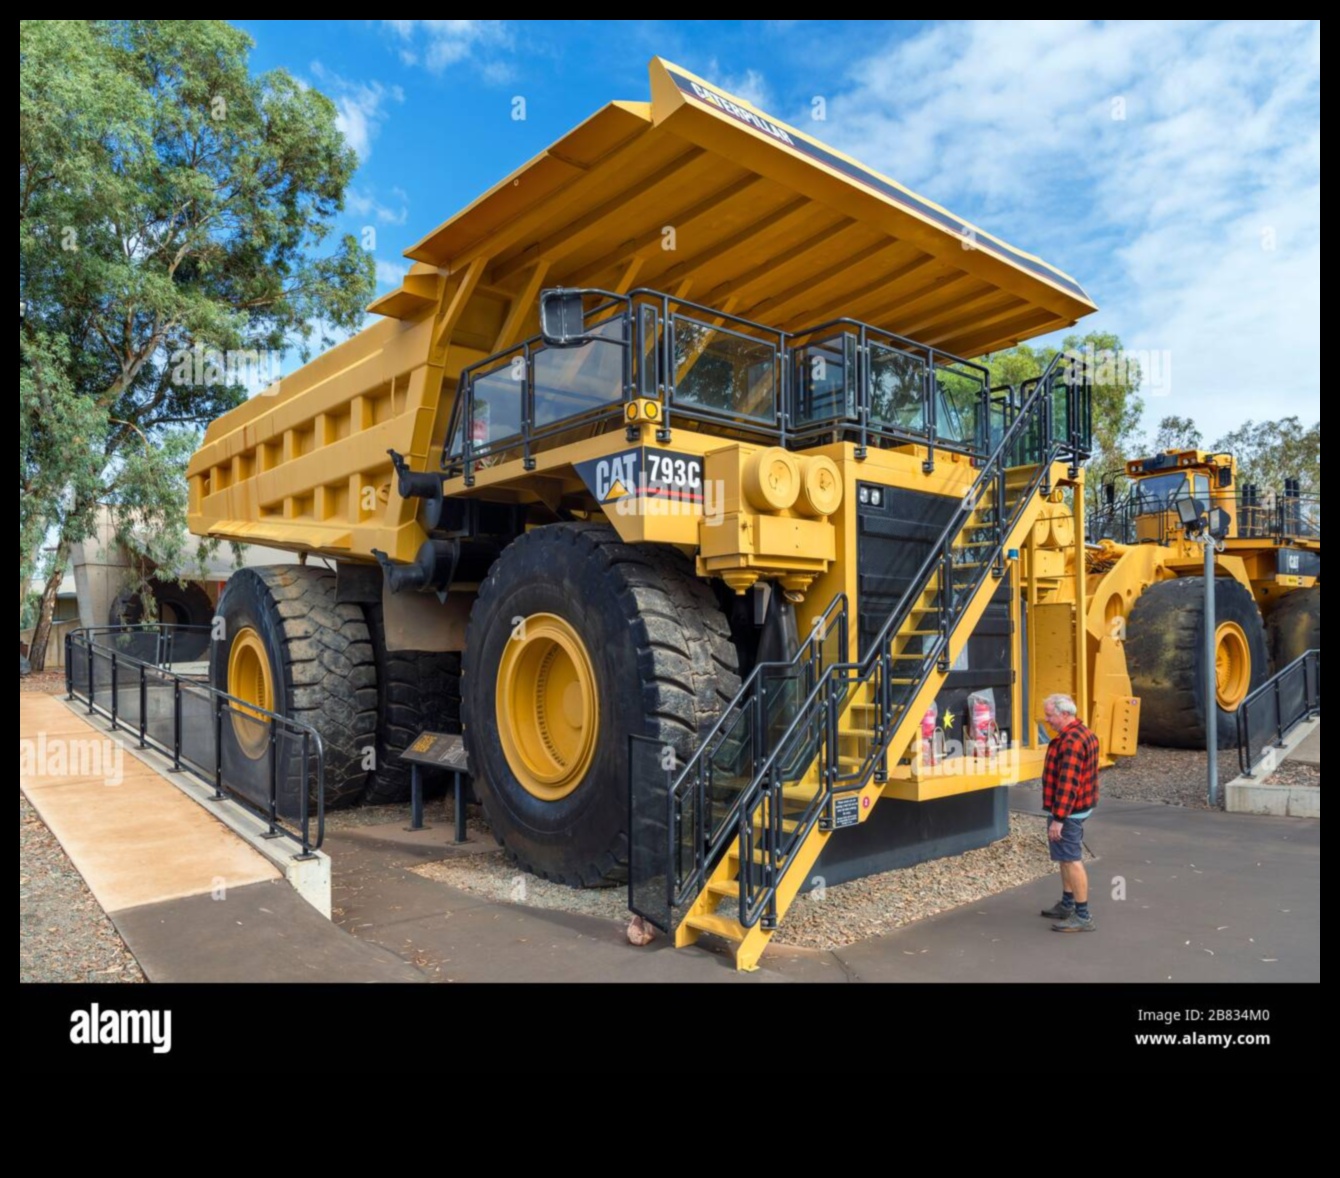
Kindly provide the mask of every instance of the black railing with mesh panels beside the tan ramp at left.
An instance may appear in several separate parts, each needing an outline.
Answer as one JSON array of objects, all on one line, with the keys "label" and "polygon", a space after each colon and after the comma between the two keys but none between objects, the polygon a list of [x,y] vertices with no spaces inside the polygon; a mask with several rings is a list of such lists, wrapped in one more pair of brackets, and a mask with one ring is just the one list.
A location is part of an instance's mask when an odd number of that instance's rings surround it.
[{"label": "black railing with mesh panels beside the tan ramp at left", "polygon": [[[66,693],[138,737],[267,824],[267,838],[316,851],[326,836],[326,768],[316,729],[172,669],[170,651],[200,627],[107,626],[66,635]],[[208,629],[208,627],[206,627]]]}]

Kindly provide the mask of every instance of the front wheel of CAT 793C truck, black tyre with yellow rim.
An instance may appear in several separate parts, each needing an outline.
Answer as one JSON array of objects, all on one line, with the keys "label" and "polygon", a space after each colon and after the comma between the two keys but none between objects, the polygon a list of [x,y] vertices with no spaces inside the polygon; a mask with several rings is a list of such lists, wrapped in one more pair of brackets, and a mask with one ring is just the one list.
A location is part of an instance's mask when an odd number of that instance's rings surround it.
[{"label": "front wheel of CAT 793C truck, black tyre with yellow rim", "polygon": [[738,686],[726,619],[679,552],[598,524],[527,532],[481,586],[464,658],[494,835],[548,879],[626,879],[628,737],[685,759]]}]

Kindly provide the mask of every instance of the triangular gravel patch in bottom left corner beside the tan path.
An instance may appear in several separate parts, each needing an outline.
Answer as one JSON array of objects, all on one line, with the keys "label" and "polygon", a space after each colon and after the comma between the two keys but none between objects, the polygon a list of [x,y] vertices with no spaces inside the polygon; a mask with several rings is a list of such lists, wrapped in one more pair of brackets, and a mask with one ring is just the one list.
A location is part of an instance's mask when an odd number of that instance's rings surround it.
[{"label": "triangular gravel patch in bottom left corner beside the tan path", "polygon": [[19,795],[19,981],[145,981],[126,942],[23,793]]}]

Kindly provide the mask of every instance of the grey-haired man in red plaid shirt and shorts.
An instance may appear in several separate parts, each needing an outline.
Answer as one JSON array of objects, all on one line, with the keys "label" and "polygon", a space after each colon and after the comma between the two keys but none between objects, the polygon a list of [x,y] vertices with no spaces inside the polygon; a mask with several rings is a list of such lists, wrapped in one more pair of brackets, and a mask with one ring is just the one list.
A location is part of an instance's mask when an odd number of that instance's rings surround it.
[{"label": "grey-haired man in red plaid shirt and shorts", "polygon": [[1043,718],[1056,736],[1043,765],[1043,809],[1052,862],[1061,868],[1061,902],[1044,909],[1057,933],[1089,933],[1088,875],[1084,872],[1084,819],[1097,805],[1097,737],[1080,721],[1069,696],[1048,696]]}]

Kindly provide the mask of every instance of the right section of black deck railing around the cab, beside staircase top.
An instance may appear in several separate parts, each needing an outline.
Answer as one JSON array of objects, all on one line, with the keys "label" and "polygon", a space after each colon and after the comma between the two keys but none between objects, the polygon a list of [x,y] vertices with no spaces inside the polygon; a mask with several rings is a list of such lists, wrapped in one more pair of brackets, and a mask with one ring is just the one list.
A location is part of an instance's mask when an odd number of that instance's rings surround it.
[{"label": "right section of black deck railing around the cab, beside staircase top", "polygon": [[925,442],[990,453],[990,373],[981,365],[855,319],[788,336],[795,444],[843,440],[870,446]]}]

